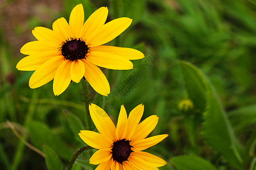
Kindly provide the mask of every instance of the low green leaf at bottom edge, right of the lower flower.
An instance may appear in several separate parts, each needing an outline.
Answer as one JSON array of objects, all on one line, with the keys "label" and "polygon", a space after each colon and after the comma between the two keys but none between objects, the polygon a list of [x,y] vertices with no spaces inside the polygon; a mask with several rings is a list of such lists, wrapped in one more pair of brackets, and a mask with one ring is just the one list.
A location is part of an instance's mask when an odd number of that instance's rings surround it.
[{"label": "low green leaf at bottom edge, right of the lower flower", "polygon": [[196,155],[183,155],[171,158],[178,170],[217,170],[211,163]]}]

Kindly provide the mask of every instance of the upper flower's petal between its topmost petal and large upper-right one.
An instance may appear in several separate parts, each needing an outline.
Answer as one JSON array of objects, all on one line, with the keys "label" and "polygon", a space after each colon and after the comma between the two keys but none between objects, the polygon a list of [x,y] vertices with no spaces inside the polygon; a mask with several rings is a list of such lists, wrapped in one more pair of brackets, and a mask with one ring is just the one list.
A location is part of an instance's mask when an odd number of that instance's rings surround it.
[{"label": "upper flower's petal between its topmost petal and large upper-right one", "polygon": [[83,40],[86,40],[89,35],[92,34],[98,27],[101,27],[106,22],[106,18],[108,17],[108,8],[101,7],[98,8],[92,15],[84,23],[82,27],[81,35]]}]

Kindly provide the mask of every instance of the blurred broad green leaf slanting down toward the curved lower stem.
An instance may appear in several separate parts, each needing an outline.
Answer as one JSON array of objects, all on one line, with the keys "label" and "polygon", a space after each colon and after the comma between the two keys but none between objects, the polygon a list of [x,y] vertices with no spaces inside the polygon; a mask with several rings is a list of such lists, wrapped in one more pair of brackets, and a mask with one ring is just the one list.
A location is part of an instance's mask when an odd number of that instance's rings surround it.
[{"label": "blurred broad green leaf slanting down toward the curved lower stem", "polygon": [[47,125],[42,122],[31,121],[28,124],[28,132],[30,133],[32,143],[36,147],[42,149],[42,143],[46,143],[53,148],[61,158],[68,160],[71,158],[72,152]]}]

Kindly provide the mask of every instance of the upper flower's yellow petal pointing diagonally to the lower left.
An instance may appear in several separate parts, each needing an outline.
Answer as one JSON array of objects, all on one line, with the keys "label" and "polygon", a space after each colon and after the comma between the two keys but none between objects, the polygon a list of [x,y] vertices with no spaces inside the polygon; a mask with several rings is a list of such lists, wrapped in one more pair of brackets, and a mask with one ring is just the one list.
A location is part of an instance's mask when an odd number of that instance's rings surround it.
[{"label": "upper flower's yellow petal pointing diagonally to the lower left", "polygon": [[30,88],[38,88],[51,81],[55,76],[57,68],[60,66],[61,63],[63,63],[63,61],[63,56],[57,56],[43,63],[31,75],[30,81],[28,82]]}]

